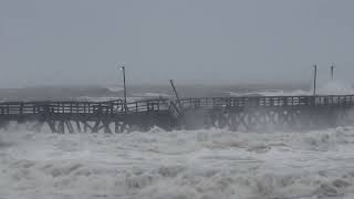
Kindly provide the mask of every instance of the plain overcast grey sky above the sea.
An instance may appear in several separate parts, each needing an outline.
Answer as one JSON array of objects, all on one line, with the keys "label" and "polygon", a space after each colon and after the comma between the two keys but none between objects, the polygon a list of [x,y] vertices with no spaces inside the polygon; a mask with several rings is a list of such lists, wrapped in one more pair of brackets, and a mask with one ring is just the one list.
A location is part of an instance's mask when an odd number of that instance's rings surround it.
[{"label": "plain overcast grey sky above the sea", "polygon": [[354,75],[353,0],[0,0],[0,87]]}]

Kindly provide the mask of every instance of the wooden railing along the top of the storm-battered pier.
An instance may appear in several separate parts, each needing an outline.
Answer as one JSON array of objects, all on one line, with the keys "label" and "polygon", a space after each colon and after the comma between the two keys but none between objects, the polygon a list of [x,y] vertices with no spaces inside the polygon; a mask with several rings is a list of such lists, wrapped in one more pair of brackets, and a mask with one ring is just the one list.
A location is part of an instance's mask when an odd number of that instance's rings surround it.
[{"label": "wooden railing along the top of the storm-battered pier", "polygon": [[176,102],[167,98],[129,102],[3,102],[1,115],[80,114],[122,115],[168,111],[178,117],[181,109],[212,107],[294,107],[294,106],[353,106],[354,95],[325,96],[249,96],[184,98]]}]

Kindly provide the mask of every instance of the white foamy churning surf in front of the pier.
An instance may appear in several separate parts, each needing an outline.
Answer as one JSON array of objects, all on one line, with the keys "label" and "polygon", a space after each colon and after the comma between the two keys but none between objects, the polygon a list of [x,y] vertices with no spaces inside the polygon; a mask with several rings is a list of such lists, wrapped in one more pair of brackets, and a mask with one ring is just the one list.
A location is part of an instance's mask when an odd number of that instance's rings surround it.
[{"label": "white foamy churning surf in front of the pier", "polygon": [[354,128],[0,134],[0,198],[354,197]]}]

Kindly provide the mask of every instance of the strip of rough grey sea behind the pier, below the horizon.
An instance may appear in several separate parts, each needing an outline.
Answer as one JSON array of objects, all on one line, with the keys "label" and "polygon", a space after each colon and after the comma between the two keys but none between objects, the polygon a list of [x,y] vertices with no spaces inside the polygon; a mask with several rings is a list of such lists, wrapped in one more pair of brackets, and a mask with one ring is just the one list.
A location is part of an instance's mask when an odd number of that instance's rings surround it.
[{"label": "strip of rough grey sea behind the pier, below the horizon", "polygon": [[[238,96],[292,96],[312,95],[312,88],[305,84],[235,84],[235,85],[202,85],[178,84],[177,91],[181,98],[188,97],[238,97]],[[317,85],[320,95],[354,94],[351,84],[343,81],[329,81]],[[111,101],[123,98],[121,85],[96,86],[33,86],[23,88],[0,88],[0,101]],[[175,100],[171,86],[165,85],[128,85],[129,101],[146,98]]]}]

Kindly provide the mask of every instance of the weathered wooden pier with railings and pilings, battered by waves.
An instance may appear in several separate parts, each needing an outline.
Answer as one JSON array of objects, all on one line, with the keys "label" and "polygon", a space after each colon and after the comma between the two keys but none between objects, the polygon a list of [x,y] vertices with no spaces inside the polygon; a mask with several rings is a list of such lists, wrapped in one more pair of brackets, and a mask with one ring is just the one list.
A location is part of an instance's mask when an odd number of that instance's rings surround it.
[{"label": "weathered wooden pier with railings and pilings, battered by waves", "polygon": [[108,102],[3,102],[0,127],[31,124],[53,133],[228,128],[240,132],[306,130],[354,124],[354,95],[166,98]]}]

